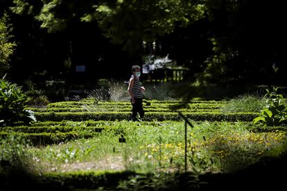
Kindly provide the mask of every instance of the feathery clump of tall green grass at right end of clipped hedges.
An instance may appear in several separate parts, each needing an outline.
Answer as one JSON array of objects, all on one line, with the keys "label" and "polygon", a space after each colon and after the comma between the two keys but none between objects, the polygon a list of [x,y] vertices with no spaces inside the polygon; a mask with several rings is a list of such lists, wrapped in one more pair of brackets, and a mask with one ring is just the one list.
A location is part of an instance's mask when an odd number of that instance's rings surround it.
[{"label": "feathery clump of tall green grass at right end of clipped hedges", "polygon": [[224,113],[260,112],[266,105],[266,98],[254,95],[238,96],[221,108]]}]

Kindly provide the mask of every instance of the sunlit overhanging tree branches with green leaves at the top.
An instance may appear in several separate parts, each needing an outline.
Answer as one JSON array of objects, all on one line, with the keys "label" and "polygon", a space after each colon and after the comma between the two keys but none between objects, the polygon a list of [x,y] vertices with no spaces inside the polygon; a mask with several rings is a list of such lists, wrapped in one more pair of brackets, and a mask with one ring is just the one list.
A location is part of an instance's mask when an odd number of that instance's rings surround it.
[{"label": "sunlit overhanging tree branches with green leaves at the top", "polygon": [[141,48],[143,40],[171,33],[175,25],[186,25],[202,17],[203,1],[114,0],[114,1],[34,1],[15,0],[18,14],[32,14],[50,33],[64,30],[73,21],[96,21],[103,34],[128,51]]}]

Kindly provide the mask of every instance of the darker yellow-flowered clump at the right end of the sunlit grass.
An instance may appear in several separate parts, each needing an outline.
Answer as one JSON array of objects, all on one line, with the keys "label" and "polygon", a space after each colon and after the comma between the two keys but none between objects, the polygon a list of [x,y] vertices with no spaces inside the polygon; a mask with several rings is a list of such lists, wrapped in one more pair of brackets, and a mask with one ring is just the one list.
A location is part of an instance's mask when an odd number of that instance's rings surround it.
[{"label": "darker yellow-flowered clump at the right end of the sunlit grass", "polygon": [[216,132],[205,142],[210,154],[225,172],[233,172],[252,165],[275,153],[283,154],[286,134],[236,131]]}]

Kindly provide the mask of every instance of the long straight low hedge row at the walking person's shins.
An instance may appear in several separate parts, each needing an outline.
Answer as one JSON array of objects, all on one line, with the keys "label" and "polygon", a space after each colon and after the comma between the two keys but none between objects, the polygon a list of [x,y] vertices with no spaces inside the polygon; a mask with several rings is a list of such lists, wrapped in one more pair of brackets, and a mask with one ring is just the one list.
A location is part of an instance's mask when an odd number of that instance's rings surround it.
[{"label": "long straight low hedge row at the walking person's shins", "polygon": [[[209,120],[209,121],[252,121],[259,113],[220,113],[220,112],[186,112],[184,115],[191,120]],[[35,112],[35,117],[39,121],[53,120],[129,120],[130,112]],[[182,120],[178,113],[169,112],[149,112],[146,113],[143,120],[163,121],[163,120]]]}]

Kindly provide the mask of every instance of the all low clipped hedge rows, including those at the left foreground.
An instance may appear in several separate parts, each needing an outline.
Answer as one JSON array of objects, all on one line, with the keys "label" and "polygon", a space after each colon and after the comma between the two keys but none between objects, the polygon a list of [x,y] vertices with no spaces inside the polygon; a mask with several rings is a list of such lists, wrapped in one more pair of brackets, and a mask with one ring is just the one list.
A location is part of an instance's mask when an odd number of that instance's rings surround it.
[{"label": "all low clipped hedge rows, including those at the left foreground", "polygon": [[[227,101],[157,101],[144,100],[146,112],[143,122],[181,121],[178,111],[195,121],[246,121],[250,122],[258,113],[223,113],[221,107]],[[29,107],[37,122],[29,126],[21,124],[3,127],[0,136],[9,134],[23,136],[34,145],[61,143],[78,138],[92,138],[106,127],[116,127],[117,122],[129,122],[130,102],[101,102],[81,100],[55,102],[45,108]]]}]

